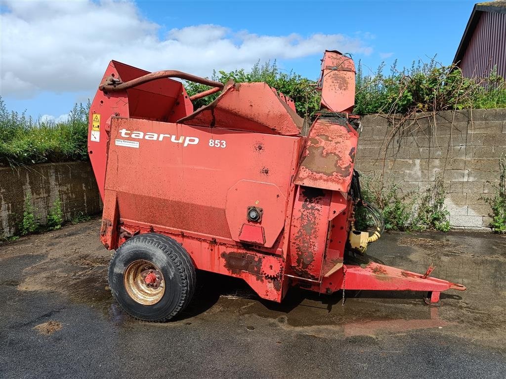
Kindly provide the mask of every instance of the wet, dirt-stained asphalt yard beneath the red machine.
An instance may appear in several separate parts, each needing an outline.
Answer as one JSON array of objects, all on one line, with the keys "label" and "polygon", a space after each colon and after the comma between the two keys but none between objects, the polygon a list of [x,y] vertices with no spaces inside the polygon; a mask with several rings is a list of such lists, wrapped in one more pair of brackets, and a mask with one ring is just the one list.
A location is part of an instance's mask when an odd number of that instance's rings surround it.
[{"label": "wet, dirt-stained asphalt yard beneath the red machine", "polygon": [[0,245],[0,377],[504,377],[506,238],[390,233],[376,261],[462,283],[441,306],[419,293],[290,289],[282,304],[198,273],[190,307],[136,321],[107,288],[100,222]]}]

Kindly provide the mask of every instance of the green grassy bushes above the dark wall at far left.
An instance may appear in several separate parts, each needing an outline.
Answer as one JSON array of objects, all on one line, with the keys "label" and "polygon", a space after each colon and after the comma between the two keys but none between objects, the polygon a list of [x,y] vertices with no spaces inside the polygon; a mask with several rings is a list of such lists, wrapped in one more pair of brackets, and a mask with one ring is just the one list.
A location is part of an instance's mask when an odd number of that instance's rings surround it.
[{"label": "green grassy bushes above the dark wall at far left", "polygon": [[87,160],[88,110],[76,104],[65,122],[35,121],[0,98],[0,165]]}]

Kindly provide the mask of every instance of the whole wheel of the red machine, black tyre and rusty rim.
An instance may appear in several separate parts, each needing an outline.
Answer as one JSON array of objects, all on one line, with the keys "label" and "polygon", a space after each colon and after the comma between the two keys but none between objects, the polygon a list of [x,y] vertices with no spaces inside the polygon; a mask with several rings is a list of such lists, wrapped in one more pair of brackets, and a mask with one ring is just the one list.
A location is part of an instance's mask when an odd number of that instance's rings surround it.
[{"label": "whole wheel of the red machine, black tyre and rusty rim", "polygon": [[109,264],[114,299],[131,316],[167,321],[186,308],[196,282],[190,256],[175,240],[146,233],[116,250]]}]

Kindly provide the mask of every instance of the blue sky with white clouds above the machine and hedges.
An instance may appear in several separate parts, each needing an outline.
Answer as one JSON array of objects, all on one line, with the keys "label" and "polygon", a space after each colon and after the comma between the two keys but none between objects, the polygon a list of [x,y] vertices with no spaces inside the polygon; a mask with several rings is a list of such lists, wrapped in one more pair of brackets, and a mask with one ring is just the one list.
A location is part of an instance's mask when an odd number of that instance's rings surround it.
[{"label": "blue sky with white clouds above the machine and hedges", "polygon": [[372,70],[435,54],[450,64],[474,4],[3,1],[0,94],[9,109],[57,119],[93,98],[111,59],[204,76],[277,59],[313,79],[325,48]]}]

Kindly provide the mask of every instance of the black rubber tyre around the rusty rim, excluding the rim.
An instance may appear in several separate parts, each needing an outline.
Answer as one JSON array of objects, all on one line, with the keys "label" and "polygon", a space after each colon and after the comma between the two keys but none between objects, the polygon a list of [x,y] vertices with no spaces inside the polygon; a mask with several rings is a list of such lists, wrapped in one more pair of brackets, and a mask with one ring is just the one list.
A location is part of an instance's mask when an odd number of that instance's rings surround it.
[{"label": "black rubber tyre around the rusty rim, excluding the rim", "polygon": [[[144,305],[125,288],[125,270],[139,260],[152,262],[163,275],[164,292],[155,304]],[[195,266],[183,247],[156,233],[133,236],[116,250],[109,264],[113,298],[131,316],[144,321],[168,321],[186,308],[196,284]],[[162,286],[160,286],[162,287]]]}]

